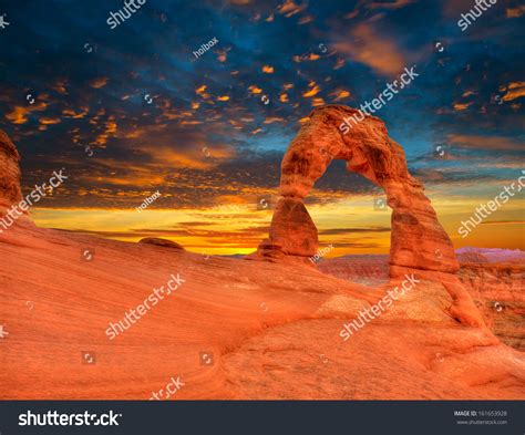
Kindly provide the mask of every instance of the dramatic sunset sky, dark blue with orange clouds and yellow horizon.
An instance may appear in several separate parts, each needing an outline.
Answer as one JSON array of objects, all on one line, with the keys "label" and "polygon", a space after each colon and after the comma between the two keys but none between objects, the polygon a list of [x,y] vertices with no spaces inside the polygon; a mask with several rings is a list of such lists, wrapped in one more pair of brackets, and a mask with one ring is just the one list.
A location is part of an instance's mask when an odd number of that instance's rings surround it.
[{"label": "dramatic sunset sky, dark blue with orange clouds and yellow horizon", "polygon": [[[247,253],[267,236],[280,160],[309,112],[358,107],[416,65],[375,115],[456,248],[525,249],[523,191],[457,235],[525,169],[521,3],[498,1],[462,32],[474,1],[147,0],[113,30],[120,0],[23,1],[0,10],[0,128],[25,194],[55,169],[69,176],[32,210],[39,226]],[[382,197],[332,164],[306,200],[331,256],[388,252]]]}]

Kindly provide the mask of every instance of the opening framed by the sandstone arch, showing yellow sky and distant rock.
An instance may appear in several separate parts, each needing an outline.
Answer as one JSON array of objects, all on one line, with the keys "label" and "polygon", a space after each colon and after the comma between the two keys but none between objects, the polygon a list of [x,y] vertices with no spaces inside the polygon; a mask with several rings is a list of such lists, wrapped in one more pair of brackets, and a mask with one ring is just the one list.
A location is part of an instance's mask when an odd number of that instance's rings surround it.
[{"label": "opening framed by the sandstone arch, showing yellow sky and distant rock", "polygon": [[380,187],[333,159],[305,205],[319,234],[310,257],[319,271],[372,288],[390,281],[391,208]]}]

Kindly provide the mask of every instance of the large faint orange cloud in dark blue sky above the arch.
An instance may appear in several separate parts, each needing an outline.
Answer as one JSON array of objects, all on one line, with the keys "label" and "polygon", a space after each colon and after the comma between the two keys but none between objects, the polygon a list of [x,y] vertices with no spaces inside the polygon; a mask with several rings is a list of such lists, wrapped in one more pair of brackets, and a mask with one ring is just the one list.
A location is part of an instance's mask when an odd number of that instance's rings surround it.
[{"label": "large faint orange cloud in dark blue sky above the arch", "polygon": [[391,38],[382,38],[369,24],[358,24],[350,31],[352,41],[336,42],[334,49],[387,76],[399,74],[406,65],[403,53]]}]

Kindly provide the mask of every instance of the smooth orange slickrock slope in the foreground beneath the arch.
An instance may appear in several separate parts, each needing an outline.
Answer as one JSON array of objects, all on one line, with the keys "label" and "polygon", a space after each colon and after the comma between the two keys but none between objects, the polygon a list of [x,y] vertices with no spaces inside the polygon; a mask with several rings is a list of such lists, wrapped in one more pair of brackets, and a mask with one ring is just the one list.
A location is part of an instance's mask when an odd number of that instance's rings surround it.
[{"label": "smooth orange slickrock slope in the foreground beneath the arch", "polygon": [[[147,400],[173,376],[175,400],[523,398],[524,354],[454,319],[454,275],[416,273],[344,342],[342,325],[401,278],[370,288],[17,220],[0,232],[0,400]],[[109,323],[173,276],[181,286],[110,340]]]}]

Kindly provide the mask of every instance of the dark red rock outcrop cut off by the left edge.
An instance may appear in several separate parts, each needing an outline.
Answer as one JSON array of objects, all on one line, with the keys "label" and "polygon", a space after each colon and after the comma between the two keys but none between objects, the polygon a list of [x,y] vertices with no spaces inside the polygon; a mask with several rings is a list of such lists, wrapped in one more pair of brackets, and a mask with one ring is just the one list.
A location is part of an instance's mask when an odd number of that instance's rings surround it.
[{"label": "dark red rock outcrop cut off by the left edge", "polygon": [[22,200],[20,188],[20,155],[9,136],[0,130],[0,207]]}]

